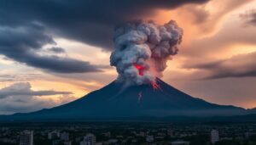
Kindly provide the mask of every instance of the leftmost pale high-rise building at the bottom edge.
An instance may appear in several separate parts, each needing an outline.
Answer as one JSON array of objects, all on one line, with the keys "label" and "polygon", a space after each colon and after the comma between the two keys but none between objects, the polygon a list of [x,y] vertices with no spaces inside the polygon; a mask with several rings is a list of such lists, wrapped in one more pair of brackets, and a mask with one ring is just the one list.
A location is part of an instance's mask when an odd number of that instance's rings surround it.
[{"label": "leftmost pale high-rise building at the bottom edge", "polygon": [[20,132],[20,145],[33,145],[33,131]]}]

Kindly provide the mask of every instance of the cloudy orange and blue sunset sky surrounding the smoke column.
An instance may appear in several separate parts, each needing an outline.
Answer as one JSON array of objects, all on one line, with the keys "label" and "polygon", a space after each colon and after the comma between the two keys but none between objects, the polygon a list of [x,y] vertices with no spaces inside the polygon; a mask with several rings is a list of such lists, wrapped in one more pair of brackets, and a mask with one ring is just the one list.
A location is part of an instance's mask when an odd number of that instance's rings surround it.
[{"label": "cloudy orange and blue sunset sky surrounding the smoke column", "polygon": [[113,30],[183,28],[162,80],[211,103],[256,107],[255,0],[0,1],[0,114],[71,102],[114,81]]}]

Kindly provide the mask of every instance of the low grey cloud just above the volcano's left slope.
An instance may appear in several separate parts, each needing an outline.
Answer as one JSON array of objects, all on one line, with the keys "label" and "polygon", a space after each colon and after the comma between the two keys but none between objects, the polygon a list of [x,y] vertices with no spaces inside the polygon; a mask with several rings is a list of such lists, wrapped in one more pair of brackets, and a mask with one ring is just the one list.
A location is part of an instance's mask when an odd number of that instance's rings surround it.
[{"label": "low grey cloud just above the volcano's left slope", "polygon": [[52,90],[47,91],[32,91],[31,85],[29,82],[23,83],[15,83],[11,86],[4,87],[0,89],[0,99],[1,98],[9,98],[15,96],[50,96],[50,95],[58,95],[58,94],[71,94],[72,92],[55,92]]}]

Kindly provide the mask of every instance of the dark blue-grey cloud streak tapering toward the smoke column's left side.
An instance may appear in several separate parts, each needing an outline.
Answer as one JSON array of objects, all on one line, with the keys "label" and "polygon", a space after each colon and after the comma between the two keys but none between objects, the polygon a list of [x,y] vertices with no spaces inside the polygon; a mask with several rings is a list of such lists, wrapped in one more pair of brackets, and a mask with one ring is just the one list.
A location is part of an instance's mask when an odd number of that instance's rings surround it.
[{"label": "dark blue-grey cloud streak tapering toward the smoke column's left side", "polygon": [[[44,26],[37,23],[27,23],[15,28],[0,27],[0,53],[9,59],[58,73],[101,71],[99,70],[101,67],[91,65],[89,62],[40,54],[42,47],[47,44],[55,44],[55,42],[51,36],[46,34]],[[64,52],[61,47],[52,47],[49,50],[55,53]]]}]

